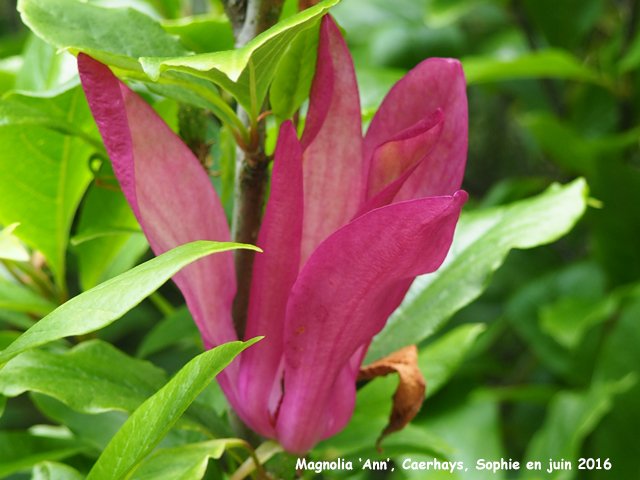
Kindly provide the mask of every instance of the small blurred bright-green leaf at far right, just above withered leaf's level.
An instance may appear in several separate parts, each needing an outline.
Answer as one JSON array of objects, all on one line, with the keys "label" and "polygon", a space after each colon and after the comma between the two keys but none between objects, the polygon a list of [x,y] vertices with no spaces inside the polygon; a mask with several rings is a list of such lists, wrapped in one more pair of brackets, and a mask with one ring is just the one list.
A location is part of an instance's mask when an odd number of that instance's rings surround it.
[{"label": "small blurred bright-green leaf at far right, just above withered leaf's level", "polygon": [[563,297],[540,309],[540,330],[572,349],[582,342],[589,328],[606,321],[617,306],[613,296],[604,300]]}]

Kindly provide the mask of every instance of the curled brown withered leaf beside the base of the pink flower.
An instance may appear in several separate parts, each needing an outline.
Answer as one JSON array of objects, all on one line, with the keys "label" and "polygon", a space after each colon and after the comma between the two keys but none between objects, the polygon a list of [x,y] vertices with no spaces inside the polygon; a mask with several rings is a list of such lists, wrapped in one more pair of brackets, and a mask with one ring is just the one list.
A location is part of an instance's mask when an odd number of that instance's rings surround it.
[{"label": "curled brown withered leaf beside the base of the pink flower", "polygon": [[397,373],[400,384],[393,395],[393,409],[389,424],[380,434],[376,448],[382,452],[380,443],[387,435],[402,430],[420,411],[426,392],[426,382],[418,368],[418,348],[409,345],[369,365],[360,367],[358,381],[383,377]]}]

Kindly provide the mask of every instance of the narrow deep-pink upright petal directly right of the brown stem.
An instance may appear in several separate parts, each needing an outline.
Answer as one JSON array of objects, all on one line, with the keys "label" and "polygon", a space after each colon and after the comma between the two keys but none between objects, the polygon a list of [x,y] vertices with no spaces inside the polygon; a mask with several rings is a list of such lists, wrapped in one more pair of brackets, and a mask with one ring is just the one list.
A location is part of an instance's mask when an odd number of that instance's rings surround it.
[{"label": "narrow deep-pink upright petal directly right of the brown stem", "polygon": [[245,338],[264,335],[242,354],[239,392],[247,423],[275,437],[282,397],[283,332],[287,300],[298,276],[302,237],[302,151],[290,121],[282,124],[271,174],[271,194],[253,265]]}]

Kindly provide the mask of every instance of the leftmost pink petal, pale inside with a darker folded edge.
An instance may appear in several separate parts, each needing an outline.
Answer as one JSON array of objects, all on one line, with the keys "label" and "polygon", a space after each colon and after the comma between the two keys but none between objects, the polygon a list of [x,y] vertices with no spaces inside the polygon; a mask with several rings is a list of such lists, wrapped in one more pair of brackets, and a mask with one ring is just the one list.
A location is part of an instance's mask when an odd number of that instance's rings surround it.
[{"label": "leftmost pink petal, pale inside with a darker folded edge", "polygon": [[[108,67],[80,53],[78,69],[114,172],[154,253],[196,240],[230,241],[209,176],[182,140]],[[207,348],[237,340],[231,320],[236,291],[231,252],[192,263],[174,281]]]}]

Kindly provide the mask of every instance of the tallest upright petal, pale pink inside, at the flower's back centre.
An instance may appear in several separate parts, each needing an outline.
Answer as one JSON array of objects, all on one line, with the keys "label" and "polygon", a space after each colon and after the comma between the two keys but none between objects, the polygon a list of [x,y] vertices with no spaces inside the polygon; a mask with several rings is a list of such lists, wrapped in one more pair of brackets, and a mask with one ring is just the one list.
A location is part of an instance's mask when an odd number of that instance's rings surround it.
[{"label": "tallest upright petal, pale pink inside, at the flower's back centre", "polygon": [[316,75],[301,143],[304,265],[320,242],[351,220],[363,196],[358,85],[351,54],[329,15],[320,28]]}]

